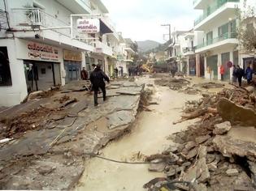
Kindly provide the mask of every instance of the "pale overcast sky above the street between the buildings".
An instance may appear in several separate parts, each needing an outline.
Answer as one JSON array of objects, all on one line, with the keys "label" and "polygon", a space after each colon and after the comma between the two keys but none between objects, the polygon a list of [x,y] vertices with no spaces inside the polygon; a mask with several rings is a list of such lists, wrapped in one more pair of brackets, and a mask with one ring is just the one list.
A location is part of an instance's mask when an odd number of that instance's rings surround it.
[{"label": "pale overcast sky above the street between the buildings", "polygon": [[[193,10],[193,0],[102,0],[110,12],[118,32],[132,40],[164,42],[163,34],[171,23],[171,30],[193,28],[198,11]],[[165,36],[168,39],[168,36]]]}]

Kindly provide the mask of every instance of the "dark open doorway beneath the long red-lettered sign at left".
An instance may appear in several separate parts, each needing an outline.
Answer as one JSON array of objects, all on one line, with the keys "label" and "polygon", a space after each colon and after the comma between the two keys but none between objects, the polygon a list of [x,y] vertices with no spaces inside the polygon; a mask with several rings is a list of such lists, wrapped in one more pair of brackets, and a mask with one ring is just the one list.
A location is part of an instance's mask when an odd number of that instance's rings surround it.
[{"label": "dark open doorway beneath the long red-lettered sign at left", "polygon": [[47,90],[61,84],[59,63],[25,60],[24,71],[28,92]]}]

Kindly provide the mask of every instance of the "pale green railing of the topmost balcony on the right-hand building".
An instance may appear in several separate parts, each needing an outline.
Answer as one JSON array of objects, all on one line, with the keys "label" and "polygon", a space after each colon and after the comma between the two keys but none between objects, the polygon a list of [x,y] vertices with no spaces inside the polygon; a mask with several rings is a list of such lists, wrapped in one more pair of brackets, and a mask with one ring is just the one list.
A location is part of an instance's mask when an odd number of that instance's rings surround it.
[{"label": "pale green railing of the topmost balcony on the right-hand building", "polygon": [[[197,0],[196,0],[197,1]],[[199,16],[195,21],[194,21],[194,26],[196,26],[198,23],[201,23],[202,20],[206,19],[209,15],[217,11],[220,7],[225,5],[227,2],[240,2],[240,0],[221,0],[218,3],[215,3],[213,5],[210,5],[208,9],[205,11],[205,13],[201,16]]]}]

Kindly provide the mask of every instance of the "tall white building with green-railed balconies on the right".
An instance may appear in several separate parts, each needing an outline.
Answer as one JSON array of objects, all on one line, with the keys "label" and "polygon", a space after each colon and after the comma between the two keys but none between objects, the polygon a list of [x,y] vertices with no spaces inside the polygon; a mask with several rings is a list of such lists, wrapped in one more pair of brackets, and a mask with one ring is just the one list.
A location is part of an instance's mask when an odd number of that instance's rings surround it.
[{"label": "tall white building with green-railed balconies on the right", "polygon": [[224,67],[224,80],[232,78],[232,64],[238,64],[238,40],[236,38],[236,9],[239,0],[194,0],[193,7],[202,10],[194,22],[194,31],[203,32],[201,45],[196,45],[197,68],[204,57],[206,79],[221,79],[220,67]]}]

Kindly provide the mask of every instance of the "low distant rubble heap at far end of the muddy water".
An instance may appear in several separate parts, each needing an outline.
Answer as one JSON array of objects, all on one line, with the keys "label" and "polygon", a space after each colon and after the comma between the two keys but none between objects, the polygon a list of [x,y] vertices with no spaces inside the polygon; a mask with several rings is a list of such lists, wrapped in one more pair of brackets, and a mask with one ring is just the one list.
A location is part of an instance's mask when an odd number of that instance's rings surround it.
[{"label": "low distant rubble heap at far end of the muddy water", "polygon": [[171,78],[163,78],[163,79],[155,79],[154,83],[163,87],[170,87],[171,90],[178,91],[184,87],[187,87],[190,82],[187,79],[171,79]]}]

